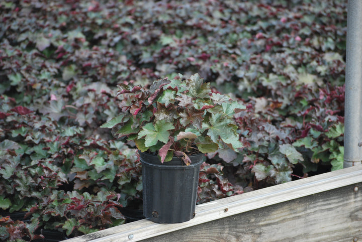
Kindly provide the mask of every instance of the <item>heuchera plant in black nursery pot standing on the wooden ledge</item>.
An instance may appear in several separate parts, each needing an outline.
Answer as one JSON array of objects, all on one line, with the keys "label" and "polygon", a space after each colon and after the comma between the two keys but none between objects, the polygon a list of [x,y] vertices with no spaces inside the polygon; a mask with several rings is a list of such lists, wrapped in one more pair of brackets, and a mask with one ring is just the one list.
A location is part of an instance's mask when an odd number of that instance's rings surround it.
[{"label": "heuchera plant in black nursery pot standing on the wooden ledge", "polygon": [[199,74],[155,80],[148,89],[118,86],[122,112],[101,127],[139,150],[144,216],[164,223],[190,220],[203,154],[242,147],[233,115],[245,106],[213,92]]}]

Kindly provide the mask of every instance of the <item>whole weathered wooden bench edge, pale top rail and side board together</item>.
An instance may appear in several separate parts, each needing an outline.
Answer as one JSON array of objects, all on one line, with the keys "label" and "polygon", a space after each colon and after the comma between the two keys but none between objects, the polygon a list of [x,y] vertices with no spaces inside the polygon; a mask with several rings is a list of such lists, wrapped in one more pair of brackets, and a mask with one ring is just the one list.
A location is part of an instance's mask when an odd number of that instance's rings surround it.
[{"label": "whole weathered wooden bench edge, pale top rail and side board together", "polygon": [[358,238],[362,240],[362,166],[204,203],[196,207],[195,218],[188,222],[158,224],[143,219],[67,242],[357,241]]}]

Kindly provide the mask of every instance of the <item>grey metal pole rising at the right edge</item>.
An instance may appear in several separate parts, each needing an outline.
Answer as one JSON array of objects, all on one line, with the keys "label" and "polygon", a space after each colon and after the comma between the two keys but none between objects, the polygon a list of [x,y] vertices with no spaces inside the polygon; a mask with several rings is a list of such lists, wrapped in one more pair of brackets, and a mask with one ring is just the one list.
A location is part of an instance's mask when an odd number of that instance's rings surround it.
[{"label": "grey metal pole rising at the right edge", "polygon": [[362,1],[348,0],[343,168],[362,161]]}]

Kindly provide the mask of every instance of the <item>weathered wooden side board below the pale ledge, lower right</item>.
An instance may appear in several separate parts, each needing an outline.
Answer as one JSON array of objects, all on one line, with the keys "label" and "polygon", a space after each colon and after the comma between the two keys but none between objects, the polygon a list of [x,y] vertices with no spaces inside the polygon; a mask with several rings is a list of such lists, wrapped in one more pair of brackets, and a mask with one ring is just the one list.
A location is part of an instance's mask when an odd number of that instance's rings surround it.
[{"label": "weathered wooden side board below the pale ledge, lower right", "polygon": [[361,190],[362,183],[353,184],[143,241],[360,241]]}]

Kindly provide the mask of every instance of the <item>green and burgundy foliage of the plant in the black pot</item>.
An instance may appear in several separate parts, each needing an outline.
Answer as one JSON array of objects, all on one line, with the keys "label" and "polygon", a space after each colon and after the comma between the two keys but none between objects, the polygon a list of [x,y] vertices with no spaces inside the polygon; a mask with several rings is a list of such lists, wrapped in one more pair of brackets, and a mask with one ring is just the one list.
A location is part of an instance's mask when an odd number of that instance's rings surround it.
[{"label": "green and burgundy foliage of the plant in the black pot", "polygon": [[141,152],[157,153],[161,162],[188,155],[242,147],[234,114],[245,108],[227,95],[212,92],[199,74],[183,80],[155,80],[149,89],[118,85],[122,112],[102,128],[133,140]]}]

